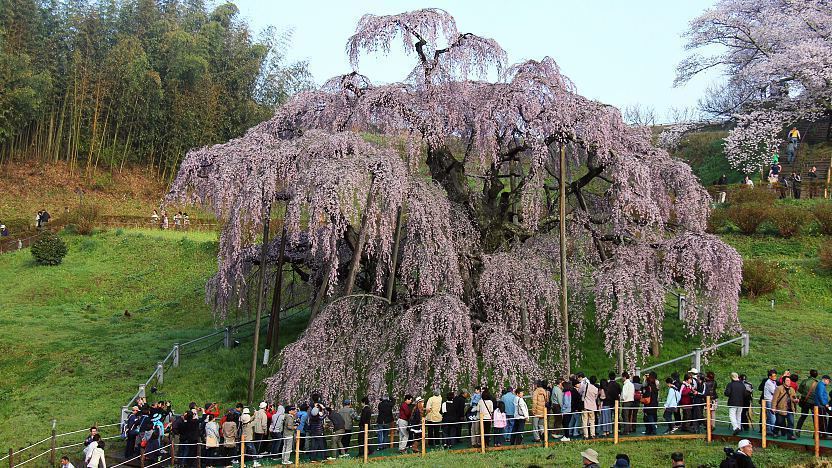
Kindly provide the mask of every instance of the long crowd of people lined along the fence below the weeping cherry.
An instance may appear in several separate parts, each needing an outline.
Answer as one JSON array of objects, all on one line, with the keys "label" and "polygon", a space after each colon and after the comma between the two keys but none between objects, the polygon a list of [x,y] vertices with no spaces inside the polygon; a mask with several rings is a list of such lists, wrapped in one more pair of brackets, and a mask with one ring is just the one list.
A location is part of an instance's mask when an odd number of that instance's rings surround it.
[{"label": "long crowd of people lined along the fence below the weeping cherry", "polygon": [[[655,372],[644,376],[610,373],[600,380],[579,372],[552,384],[537,381],[528,396],[521,388],[492,392],[480,386],[444,395],[434,390],[427,400],[408,394],[398,403],[387,395],[375,404],[368,397],[358,402],[345,399],[337,407],[322,395],[312,394],[296,404],[261,402],[254,411],[242,403],[225,412],[217,403],[201,407],[191,403],[187,411],[177,415],[170,402],[139,399],[123,424],[122,438],[124,457],[143,453],[146,465],[165,457],[165,448],[174,439],[175,460],[181,466],[195,466],[197,445],[202,466],[233,466],[239,463],[241,452],[254,460],[255,466],[263,457],[288,465],[293,463],[296,450],[305,461],[349,457],[356,449],[362,456],[365,426],[372,427],[370,453],[421,451],[423,444],[437,448],[520,445],[528,442],[529,436],[534,442],[544,437],[562,442],[612,437],[616,404],[621,435],[697,433],[705,429],[707,421],[712,429],[716,427],[715,412],[724,398],[735,436],[752,431],[754,423],[762,419],[750,413],[759,401],[758,407],[766,411],[768,437],[796,439],[817,407],[818,430],[828,439],[832,429],[830,389],[830,377],[819,378],[816,370],[801,379],[788,370],[780,375],[772,369],[757,386],[745,375],[731,373],[722,388],[713,372],[693,368],[663,381]],[[754,398],[756,392],[758,399]],[[706,407],[707,401],[710,407]],[[662,422],[658,421],[659,412]],[[83,466],[98,468],[96,450],[103,449],[103,441],[94,428],[85,447]],[[741,442],[736,453],[750,450]],[[584,458],[593,462],[597,454]]]}]

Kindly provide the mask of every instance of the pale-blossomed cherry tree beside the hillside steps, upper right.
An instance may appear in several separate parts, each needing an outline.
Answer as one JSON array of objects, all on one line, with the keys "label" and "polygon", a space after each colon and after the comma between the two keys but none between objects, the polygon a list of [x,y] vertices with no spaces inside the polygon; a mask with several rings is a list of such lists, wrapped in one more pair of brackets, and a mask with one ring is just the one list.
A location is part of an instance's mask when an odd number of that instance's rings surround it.
[{"label": "pale-blossomed cherry tree beside the hillside steps, upper right", "polygon": [[827,0],[721,0],[690,24],[677,83],[719,69],[725,84],[704,101],[736,126],[725,141],[731,165],[768,164],[783,127],[832,109],[832,4]]}]

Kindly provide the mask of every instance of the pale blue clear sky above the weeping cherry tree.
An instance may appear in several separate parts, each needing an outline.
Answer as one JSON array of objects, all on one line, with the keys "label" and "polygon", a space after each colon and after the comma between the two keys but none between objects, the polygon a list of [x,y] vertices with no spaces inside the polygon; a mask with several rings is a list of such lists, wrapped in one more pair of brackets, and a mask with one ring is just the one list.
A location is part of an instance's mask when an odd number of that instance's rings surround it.
[{"label": "pale blue clear sky above the weeping cherry tree", "polygon": [[[694,107],[716,74],[673,88],[685,56],[681,34],[714,0],[426,1],[237,0],[255,30],[293,28],[291,59],[306,59],[315,81],[350,71],[344,45],[361,15],[436,7],[450,12],[460,32],[491,37],[509,62],[553,57],[584,96],[618,107],[642,104],[660,121],[671,107]],[[400,42],[400,41],[399,41]],[[361,73],[375,83],[404,79],[412,59],[394,44],[392,55],[363,56]]]}]

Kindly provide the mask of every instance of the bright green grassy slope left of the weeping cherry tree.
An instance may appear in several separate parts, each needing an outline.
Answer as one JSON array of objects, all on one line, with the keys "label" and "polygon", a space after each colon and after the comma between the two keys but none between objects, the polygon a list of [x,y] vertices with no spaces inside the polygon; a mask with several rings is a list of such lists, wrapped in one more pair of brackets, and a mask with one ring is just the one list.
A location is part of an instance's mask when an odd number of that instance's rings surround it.
[{"label": "bright green grassy slope left of the weeping cherry tree", "polygon": [[[63,237],[69,254],[56,267],[36,266],[28,249],[0,255],[4,451],[42,439],[52,418],[59,432],[117,421],[121,405],[174,342],[214,329],[203,298],[216,270],[215,233]],[[294,336],[304,325],[301,317],[284,330]],[[192,355],[183,350],[181,366],[166,372],[157,397],[174,408],[244,399],[249,343]]]}]

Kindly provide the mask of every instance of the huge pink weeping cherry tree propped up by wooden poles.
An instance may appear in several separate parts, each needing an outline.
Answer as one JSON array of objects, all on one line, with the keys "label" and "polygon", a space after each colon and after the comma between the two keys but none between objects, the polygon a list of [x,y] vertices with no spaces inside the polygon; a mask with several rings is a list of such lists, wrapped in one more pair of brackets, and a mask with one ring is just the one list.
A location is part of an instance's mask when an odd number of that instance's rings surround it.
[{"label": "huge pink weeping cherry tree propped up by wooden poles", "polygon": [[[396,40],[415,59],[402,82],[359,74],[362,54]],[[208,286],[221,319],[245,300],[264,214],[285,200],[287,261],[308,279],[312,317],[268,396],[561,377],[587,326],[633,368],[661,340],[668,288],[692,298],[684,325],[697,339],[738,329],[741,259],[705,233],[707,192],[554,60],[507,66],[494,40],[438,9],[366,15],[347,52],[352,72],[190,151],[170,194],[223,220]]]}]

